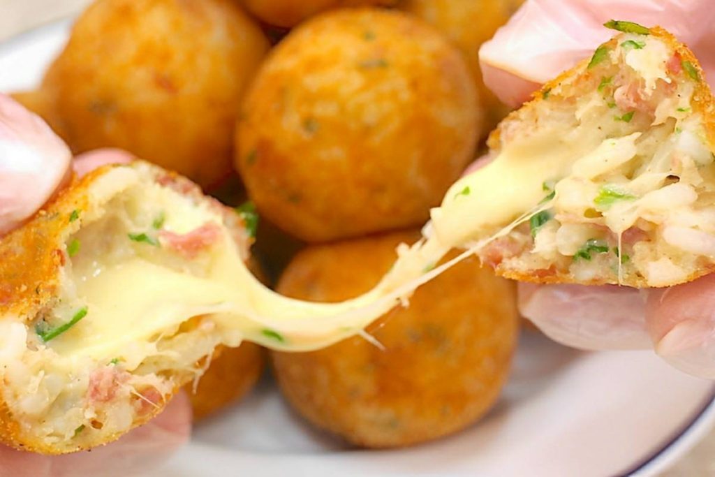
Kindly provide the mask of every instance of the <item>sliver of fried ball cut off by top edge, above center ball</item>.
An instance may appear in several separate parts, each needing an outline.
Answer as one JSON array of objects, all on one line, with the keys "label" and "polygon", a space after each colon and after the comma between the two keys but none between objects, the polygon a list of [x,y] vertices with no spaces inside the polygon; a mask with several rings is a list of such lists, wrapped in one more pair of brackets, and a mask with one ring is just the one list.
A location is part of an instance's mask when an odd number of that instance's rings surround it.
[{"label": "sliver of fried ball cut off by top edge, above center ball", "polygon": [[246,9],[269,25],[290,28],[321,11],[341,6],[393,6],[399,0],[242,0]]}]

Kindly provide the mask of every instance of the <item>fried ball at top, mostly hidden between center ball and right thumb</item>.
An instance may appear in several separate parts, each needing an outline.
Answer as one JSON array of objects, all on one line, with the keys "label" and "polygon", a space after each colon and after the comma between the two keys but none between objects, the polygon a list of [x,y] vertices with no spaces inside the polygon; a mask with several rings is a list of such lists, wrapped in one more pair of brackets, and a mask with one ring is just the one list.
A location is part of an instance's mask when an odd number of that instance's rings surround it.
[{"label": "fried ball at top, mostly hidden between center ball and right thumb", "polygon": [[483,100],[485,133],[506,116],[508,108],[482,81],[479,47],[506,24],[521,4],[523,0],[403,0],[398,6],[434,25],[463,51]]}]

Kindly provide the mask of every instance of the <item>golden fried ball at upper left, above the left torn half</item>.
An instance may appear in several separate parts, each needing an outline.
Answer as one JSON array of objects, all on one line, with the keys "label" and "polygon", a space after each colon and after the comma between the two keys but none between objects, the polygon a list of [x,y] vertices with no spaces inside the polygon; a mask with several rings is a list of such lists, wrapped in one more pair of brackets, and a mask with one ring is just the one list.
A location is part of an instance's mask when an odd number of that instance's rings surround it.
[{"label": "golden fried ball at upper left, above the left torn half", "polygon": [[212,185],[268,48],[233,0],[99,0],[42,87],[74,152],[120,147]]}]

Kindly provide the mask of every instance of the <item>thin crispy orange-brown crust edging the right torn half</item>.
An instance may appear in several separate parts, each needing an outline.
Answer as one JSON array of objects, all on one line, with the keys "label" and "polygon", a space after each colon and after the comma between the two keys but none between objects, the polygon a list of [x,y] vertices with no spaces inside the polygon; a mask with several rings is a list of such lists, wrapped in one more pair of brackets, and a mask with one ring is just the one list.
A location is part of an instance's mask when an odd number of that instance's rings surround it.
[{"label": "thin crispy orange-brown crust edging the right torn half", "polygon": [[[700,63],[696,59],[692,51],[685,45],[682,44],[675,36],[661,28],[660,26],[654,26],[650,29],[651,36],[661,39],[666,46],[668,46],[671,51],[678,54],[683,62],[690,62],[699,74],[699,79],[696,80],[693,97],[691,100],[693,112],[699,112],[703,117],[704,129],[707,134],[708,146],[711,150],[715,150],[715,102],[713,99],[712,92],[710,90],[709,84],[705,81],[705,74],[703,72]],[[618,41],[621,41],[621,35],[614,36],[611,40],[603,44],[608,48],[615,48],[618,45]],[[546,100],[547,97],[559,97],[561,96],[561,89],[564,86],[568,87],[583,87],[585,84],[593,84],[594,72],[588,69],[588,63],[591,58],[584,59],[580,63],[561,73],[556,79],[551,80],[543,85],[541,90],[535,92],[532,96],[531,101],[524,104],[521,108],[516,111],[511,112],[499,125],[498,127],[489,135],[487,145],[490,150],[498,154],[501,149],[501,136],[504,131],[510,128],[520,128],[528,122],[534,122],[538,118],[539,108],[541,103]],[[684,73],[683,78],[679,78],[678,81],[694,81],[691,77],[687,77]],[[564,273],[563,271],[549,270],[553,271],[553,274],[549,275],[546,273],[533,273],[525,272],[524,270],[515,270],[506,265],[499,264],[495,267],[497,275],[502,277],[511,278],[512,280],[518,280],[520,282],[533,282],[542,284],[557,284],[557,283],[578,283],[579,285],[608,285],[616,284],[612,280],[577,280],[573,273]],[[544,270],[541,270],[543,272]],[[680,283],[690,282],[696,278],[702,277],[704,275],[709,275],[715,272],[715,263],[703,264],[697,267],[693,273],[691,273],[684,280],[679,282],[669,283],[668,285],[660,285],[661,287],[669,287],[673,285],[679,285]],[[629,287],[643,288],[643,287],[653,287],[649,285],[645,277],[638,277],[635,274],[624,277],[621,285],[626,285]]]}]

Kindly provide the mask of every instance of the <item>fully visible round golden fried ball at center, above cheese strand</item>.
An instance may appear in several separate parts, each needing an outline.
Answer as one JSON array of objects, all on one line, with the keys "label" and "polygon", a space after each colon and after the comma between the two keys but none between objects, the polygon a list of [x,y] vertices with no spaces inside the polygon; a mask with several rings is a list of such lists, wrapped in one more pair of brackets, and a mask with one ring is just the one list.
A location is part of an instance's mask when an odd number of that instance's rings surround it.
[{"label": "fully visible round golden fried ball at center, above cheese strand", "polygon": [[243,104],[236,166],[258,209],[307,242],[422,224],[480,132],[463,57],[398,11],[307,21]]}]

